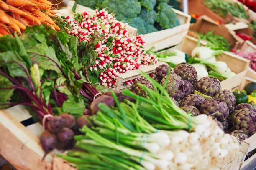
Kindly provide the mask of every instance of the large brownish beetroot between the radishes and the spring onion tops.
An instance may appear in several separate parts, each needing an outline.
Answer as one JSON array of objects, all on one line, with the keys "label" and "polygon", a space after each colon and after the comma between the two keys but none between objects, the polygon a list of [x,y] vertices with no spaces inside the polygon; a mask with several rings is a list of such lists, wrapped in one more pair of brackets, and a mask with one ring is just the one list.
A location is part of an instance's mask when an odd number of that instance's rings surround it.
[{"label": "large brownish beetroot between the radishes and the spring onion tops", "polygon": [[108,95],[102,95],[97,99],[93,100],[92,104],[90,105],[90,111],[92,115],[100,111],[100,108],[98,107],[99,103],[105,103],[107,106],[112,107],[115,105],[115,100],[113,97],[110,97]]}]

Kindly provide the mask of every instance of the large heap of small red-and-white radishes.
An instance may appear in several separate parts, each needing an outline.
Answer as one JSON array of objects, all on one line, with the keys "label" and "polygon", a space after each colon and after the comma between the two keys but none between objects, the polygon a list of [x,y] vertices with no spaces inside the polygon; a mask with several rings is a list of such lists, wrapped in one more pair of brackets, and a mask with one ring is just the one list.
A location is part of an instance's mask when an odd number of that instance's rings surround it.
[{"label": "large heap of small red-and-white radishes", "polygon": [[[82,22],[67,16],[66,19],[73,28],[67,33],[79,37],[79,42],[89,42],[94,31],[105,35],[104,40],[95,45],[98,57],[90,67],[91,70],[100,70],[101,85],[113,87],[118,73],[122,74],[157,62],[155,55],[145,52],[146,42],[141,36],[128,35],[125,28],[127,24],[117,21],[104,9],[95,12],[96,16],[87,12],[82,13]],[[129,85],[133,81],[125,83]]]}]

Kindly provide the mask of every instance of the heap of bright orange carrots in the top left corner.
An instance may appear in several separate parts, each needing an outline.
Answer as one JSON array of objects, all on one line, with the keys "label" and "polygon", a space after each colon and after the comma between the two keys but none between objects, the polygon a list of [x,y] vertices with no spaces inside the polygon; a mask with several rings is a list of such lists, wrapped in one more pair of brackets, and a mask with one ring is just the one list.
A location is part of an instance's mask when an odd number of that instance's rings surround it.
[{"label": "heap of bright orange carrots in the top left corner", "polygon": [[60,30],[51,19],[57,13],[51,10],[52,5],[47,0],[0,0],[0,37],[15,31],[21,34],[26,26],[41,23]]}]

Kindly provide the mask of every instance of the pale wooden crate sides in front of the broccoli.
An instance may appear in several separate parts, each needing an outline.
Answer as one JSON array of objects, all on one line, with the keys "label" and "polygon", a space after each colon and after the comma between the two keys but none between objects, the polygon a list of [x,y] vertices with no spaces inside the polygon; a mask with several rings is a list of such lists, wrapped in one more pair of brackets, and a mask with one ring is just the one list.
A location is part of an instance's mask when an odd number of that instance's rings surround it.
[{"label": "pale wooden crate sides in front of the broccoli", "polygon": [[179,10],[173,10],[177,14],[177,18],[181,25],[142,35],[143,39],[146,41],[146,50],[149,50],[151,47],[155,47],[153,51],[158,51],[177,45],[181,42],[182,38],[187,35],[191,16]]}]

